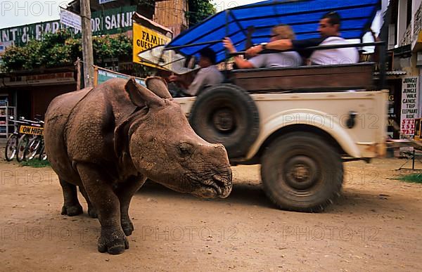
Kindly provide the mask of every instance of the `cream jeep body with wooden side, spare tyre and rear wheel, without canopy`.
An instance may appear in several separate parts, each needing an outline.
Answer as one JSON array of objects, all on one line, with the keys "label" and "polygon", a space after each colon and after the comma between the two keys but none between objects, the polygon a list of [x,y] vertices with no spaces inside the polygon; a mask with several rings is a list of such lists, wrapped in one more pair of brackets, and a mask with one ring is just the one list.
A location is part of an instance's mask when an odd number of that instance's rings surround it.
[{"label": "cream jeep body with wooden side, spare tyre and rear wheel, without canopy", "polygon": [[340,195],[343,162],[385,155],[388,91],[347,91],[373,89],[372,75],[373,63],[233,70],[231,84],[175,100],[232,165],[261,164],[278,207],[317,212]]}]

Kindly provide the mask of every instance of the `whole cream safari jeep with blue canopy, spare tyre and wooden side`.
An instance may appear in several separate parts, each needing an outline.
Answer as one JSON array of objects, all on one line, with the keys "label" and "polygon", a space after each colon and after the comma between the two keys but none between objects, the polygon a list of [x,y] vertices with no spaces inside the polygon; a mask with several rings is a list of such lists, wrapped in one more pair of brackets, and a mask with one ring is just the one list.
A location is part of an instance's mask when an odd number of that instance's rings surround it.
[{"label": "whole cream safari jeep with blue canopy, spare tyre and wooden side", "polygon": [[196,69],[192,59],[200,49],[212,48],[217,63],[226,61],[226,82],[196,97],[175,98],[191,126],[206,141],[222,143],[232,165],[261,164],[264,190],[278,207],[317,212],[340,195],[343,162],[369,162],[385,154],[385,42],[306,48],[379,46],[376,78],[371,62],[229,70],[231,56],[222,40],[229,37],[238,51],[245,50],[248,44],[269,41],[271,27],[280,22],[290,24],[297,39],[319,37],[321,13],[338,11],[347,18],[342,36],[363,41],[380,8],[378,0],[365,5],[303,0],[236,6],[138,56],[177,75],[187,75]]}]

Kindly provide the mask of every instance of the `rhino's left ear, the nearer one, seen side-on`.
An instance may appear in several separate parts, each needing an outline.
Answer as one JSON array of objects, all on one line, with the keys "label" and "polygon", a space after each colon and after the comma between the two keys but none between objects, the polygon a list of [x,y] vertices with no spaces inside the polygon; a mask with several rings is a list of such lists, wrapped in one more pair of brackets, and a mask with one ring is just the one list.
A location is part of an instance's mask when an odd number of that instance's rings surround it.
[{"label": "rhino's left ear, the nearer one, seen side-on", "polygon": [[135,79],[132,77],[124,86],[127,93],[129,93],[129,98],[138,107],[143,107],[146,105],[148,108],[154,106],[165,105],[162,98],[158,97],[152,91],[146,89],[144,86],[137,84]]}]

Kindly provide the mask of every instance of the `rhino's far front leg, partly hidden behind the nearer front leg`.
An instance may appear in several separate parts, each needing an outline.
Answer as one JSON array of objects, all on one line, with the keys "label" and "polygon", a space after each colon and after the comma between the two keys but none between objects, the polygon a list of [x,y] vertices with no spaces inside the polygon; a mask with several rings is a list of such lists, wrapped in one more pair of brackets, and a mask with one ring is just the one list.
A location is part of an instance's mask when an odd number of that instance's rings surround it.
[{"label": "rhino's far front leg, partly hidden behind the nearer front leg", "polygon": [[146,178],[143,176],[131,176],[126,181],[119,183],[119,186],[115,190],[120,200],[120,222],[126,236],[132,235],[134,231],[134,224],[132,224],[129,217],[130,201],[145,181]]}]

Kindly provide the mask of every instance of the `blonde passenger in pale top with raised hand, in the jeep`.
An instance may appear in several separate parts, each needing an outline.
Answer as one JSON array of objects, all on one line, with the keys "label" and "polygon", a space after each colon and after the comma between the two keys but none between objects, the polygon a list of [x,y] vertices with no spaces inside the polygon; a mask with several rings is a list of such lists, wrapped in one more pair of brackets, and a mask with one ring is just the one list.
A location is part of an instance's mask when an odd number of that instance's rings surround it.
[{"label": "blonde passenger in pale top with raised hand, in the jeep", "polygon": [[[276,41],[278,39],[295,39],[295,33],[289,25],[276,25],[271,29],[271,39],[269,41]],[[223,40],[224,47],[230,53],[236,53],[231,40],[226,37]],[[243,59],[241,56],[235,56],[234,62],[241,68],[260,68],[260,67],[296,67],[302,65],[302,58],[298,52],[278,52],[261,54],[250,58],[249,60]]]}]

